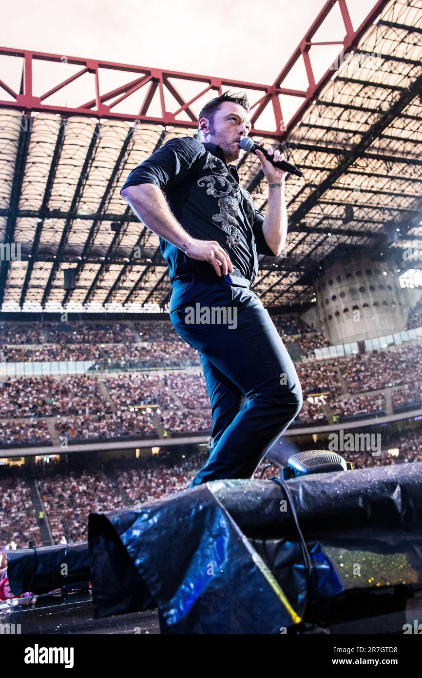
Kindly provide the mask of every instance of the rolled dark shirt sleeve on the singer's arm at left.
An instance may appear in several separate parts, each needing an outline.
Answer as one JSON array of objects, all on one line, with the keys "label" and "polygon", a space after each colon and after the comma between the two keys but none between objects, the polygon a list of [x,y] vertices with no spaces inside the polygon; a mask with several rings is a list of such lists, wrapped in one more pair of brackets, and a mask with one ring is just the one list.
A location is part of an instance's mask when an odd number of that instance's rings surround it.
[{"label": "rolled dark shirt sleeve on the singer's arm at left", "polygon": [[186,179],[204,155],[205,147],[193,137],[171,139],[130,172],[121,187],[154,184],[162,190],[174,188]]}]

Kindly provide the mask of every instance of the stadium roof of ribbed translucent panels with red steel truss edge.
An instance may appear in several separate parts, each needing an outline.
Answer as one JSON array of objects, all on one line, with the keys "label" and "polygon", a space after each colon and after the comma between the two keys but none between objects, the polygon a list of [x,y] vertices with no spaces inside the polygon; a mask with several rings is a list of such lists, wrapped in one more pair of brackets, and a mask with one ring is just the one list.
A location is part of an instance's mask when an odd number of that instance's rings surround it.
[{"label": "stadium roof of ribbed translucent panels with red steel truss edge", "polygon": [[[263,303],[310,302],[320,267],[356,247],[389,250],[404,270],[403,249],[422,239],[421,33],[422,0],[380,0],[356,30],[345,0],[329,1],[272,85],[0,48],[17,82],[0,79],[0,235],[20,243],[20,260],[2,253],[1,310],[165,308],[159,239],[119,189],[156,148],[193,134],[203,103],[226,89],[249,94],[251,136],[305,173],[287,180],[284,256],[261,258]],[[305,89],[293,87],[299,72]],[[265,210],[259,168],[253,155],[238,165]],[[77,284],[66,292],[68,268]]]}]

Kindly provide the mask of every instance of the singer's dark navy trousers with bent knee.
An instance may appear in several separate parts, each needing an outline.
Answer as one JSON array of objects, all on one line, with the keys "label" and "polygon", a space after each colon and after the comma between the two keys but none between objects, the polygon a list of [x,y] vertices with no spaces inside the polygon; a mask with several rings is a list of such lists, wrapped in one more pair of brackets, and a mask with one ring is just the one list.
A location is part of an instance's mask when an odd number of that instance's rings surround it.
[{"label": "singer's dark navy trousers with bent knee", "polygon": [[268,311],[245,279],[233,280],[192,274],[173,281],[170,319],[201,357],[213,417],[209,458],[189,487],[250,478],[303,402]]}]

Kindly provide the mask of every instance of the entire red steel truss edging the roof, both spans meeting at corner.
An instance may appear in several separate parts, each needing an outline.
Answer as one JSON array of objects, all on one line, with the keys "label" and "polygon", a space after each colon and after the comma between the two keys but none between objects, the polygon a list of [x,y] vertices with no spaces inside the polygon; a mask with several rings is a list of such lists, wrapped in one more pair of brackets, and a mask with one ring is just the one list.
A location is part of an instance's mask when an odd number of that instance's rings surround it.
[{"label": "entire red steel truss edging the roof, both spans meeting at corner", "polygon": [[[373,6],[373,9],[371,9],[371,12],[366,16],[365,20],[360,24],[358,30],[354,31],[346,0],[328,0],[272,85],[234,81],[205,75],[193,75],[192,73],[179,73],[177,71],[163,71],[160,68],[144,68],[142,66],[117,64],[96,59],[46,54],[43,52],[33,52],[29,49],[0,47],[0,54],[23,59],[22,79],[19,92],[14,92],[12,87],[0,79],[0,95],[1,89],[3,89],[7,92],[9,97],[12,98],[12,100],[0,100],[0,106],[18,108],[20,111],[24,111],[26,115],[30,115],[31,111],[46,111],[48,113],[60,113],[60,115],[64,117],[70,115],[86,115],[104,119],[121,119],[126,121],[139,120],[142,123],[177,125],[180,127],[192,128],[196,127],[196,116],[193,113],[191,106],[198,98],[201,98],[207,92],[210,92],[210,98],[212,98],[212,96],[217,96],[217,93],[221,94],[221,92],[227,88],[247,89],[249,92],[256,92],[257,95],[257,99],[253,102],[251,101],[251,121],[253,124],[251,134],[263,137],[271,136],[272,138],[279,138],[281,140],[289,129],[297,123],[305,109],[308,108],[310,102],[318,96],[318,92],[320,92],[326,81],[333,75],[333,70],[330,68],[318,82],[315,81],[310,58],[311,47],[313,45],[339,45],[341,46],[341,52],[343,52],[343,54],[347,54],[347,52],[356,49],[360,37],[366,31],[366,28],[375,20],[375,18],[377,18],[387,1],[388,0],[378,0]],[[344,37],[341,35],[341,37],[339,36],[339,40],[331,42],[312,42],[312,38],[316,31],[318,31],[318,28],[320,28],[330,12],[333,11],[336,3],[339,4],[341,10],[341,17],[345,29]],[[81,69],[71,77],[59,82],[55,87],[52,87],[47,92],[41,94],[41,96],[35,96],[33,94],[33,60],[37,59],[49,62],[75,64],[81,66]],[[286,79],[293,66],[295,66],[300,59],[303,60],[305,72],[308,77],[307,89],[299,90],[282,87],[284,79]],[[133,79],[109,92],[102,93],[100,92],[99,77],[102,68],[133,73]],[[66,85],[77,81],[77,79],[81,78],[85,73],[95,75],[95,98],[76,108],[69,106],[52,106],[51,104],[44,103],[49,96],[56,94],[60,89],[64,89]],[[203,83],[203,87],[201,86],[201,91],[190,98],[190,100],[185,100],[180,92],[177,91],[173,82],[174,80],[177,81],[177,79]],[[113,111],[113,108],[117,106],[117,104],[120,104],[123,100],[127,99],[127,97],[131,96],[131,94],[137,92],[138,89],[144,86],[146,86],[144,100],[137,112],[118,113],[117,111]],[[166,90],[180,106],[175,111],[167,110],[168,106],[166,106],[165,101]],[[161,115],[148,115],[152,99],[157,91],[159,92]],[[303,100],[297,112],[287,124],[284,124],[283,121],[279,98],[280,94],[297,96]],[[272,111],[274,112],[276,129],[259,129],[259,127],[255,126],[257,121],[259,123],[259,118],[263,112],[266,111],[267,106],[271,106]],[[189,119],[180,119],[180,115],[182,114],[185,114]]]}]

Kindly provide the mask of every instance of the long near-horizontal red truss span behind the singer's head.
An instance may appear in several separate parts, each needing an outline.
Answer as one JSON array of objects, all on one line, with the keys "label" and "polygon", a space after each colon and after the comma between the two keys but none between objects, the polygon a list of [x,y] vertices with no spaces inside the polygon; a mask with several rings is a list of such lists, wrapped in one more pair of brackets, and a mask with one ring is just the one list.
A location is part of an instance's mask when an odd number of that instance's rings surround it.
[{"label": "long near-horizontal red truss span behind the singer's head", "polygon": [[[31,111],[45,111],[47,113],[58,113],[63,117],[71,115],[97,117],[100,119],[115,119],[124,121],[140,121],[142,123],[164,125],[165,127],[186,127],[186,129],[196,129],[198,122],[196,114],[191,106],[202,96],[209,92],[209,98],[221,94],[225,89],[247,89],[253,92],[251,98],[251,115],[255,119],[259,116],[267,106],[270,106],[274,112],[274,119],[276,121],[276,129],[268,129],[268,127],[253,127],[252,134],[259,136],[281,137],[280,132],[280,102],[279,94],[287,94],[291,96],[305,97],[306,92],[302,90],[291,89],[291,87],[274,87],[274,85],[266,85],[263,83],[251,83],[247,81],[233,80],[230,78],[221,78],[215,76],[198,75],[194,73],[182,73],[180,71],[163,70],[162,68],[150,68],[144,66],[137,66],[133,64],[121,64],[117,62],[107,62],[92,58],[83,58],[66,55],[66,63],[74,66],[79,66],[79,70],[74,75],[63,79],[47,92],[41,92],[39,96],[34,96],[33,92],[33,61],[41,62],[56,62],[58,64],[63,62],[63,55],[47,54],[45,52],[34,52],[28,49],[14,49],[11,47],[0,47],[0,55],[6,55],[10,58],[18,60],[24,59],[26,68],[26,75],[22,81],[22,89],[20,92],[14,92],[14,89],[7,83],[2,83],[3,89],[9,94],[12,100],[0,100],[0,107],[17,108],[20,111],[30,113]],[[100,83],[102,79],[102,71],[108,69],[110,71],[123,71],[125,73],[133,74],[133,77],[127,77],[126,81],[109,91],[101,91]],[[77,83],[78,79],[86,75],[92,74],[95,85],[95,96],[80,106],[54,106],[45,103],[52,95],[60,92],[63,98],[66,98],[66,87],[72,83]],[[189,81],[196,87],[196,94],[188,98],[182,96],[178,92],[175,81]],[[190,88],[191,89],[191,88]],[[126,113],[117,113],[115,107],[122,103],[126,103],[131,94],[141,92],[143,100],[138,109],[133,109],[133,105],[128,103]],[[152,108],[152,100],[154,94],[159,93],[159,111]],[[166,94],[171,94],[179,104],[177,111],[167,110]],[[170,97],[168,98],[170,100]],[[171,105],[171,104],[170,104]],[[188,120],[180,115],[185,114]],[[258,120],[257,120],[258,122]]]}]

